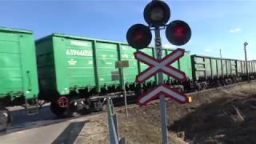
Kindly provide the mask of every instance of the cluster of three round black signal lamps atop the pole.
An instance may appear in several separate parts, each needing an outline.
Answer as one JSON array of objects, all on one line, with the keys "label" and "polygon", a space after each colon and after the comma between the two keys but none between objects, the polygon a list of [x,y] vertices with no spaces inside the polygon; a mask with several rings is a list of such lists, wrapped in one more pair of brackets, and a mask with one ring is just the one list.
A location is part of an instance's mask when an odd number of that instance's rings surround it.
[{"label": "cluster of three round black signal lamps atop the pole", "polygon": [[170,8],[165,2],[158,0],[150,2],[144,9],[144,19],[149,26],[135,24],[130,26],[126,33],[126,40],[134,49],[141,50],[150,45],[152,39],[150,27],[166,27],[166,38],[175,46],[182,46],[190,41],[191,29],[186,22],[175,20],[166,25],[170,19]]}]

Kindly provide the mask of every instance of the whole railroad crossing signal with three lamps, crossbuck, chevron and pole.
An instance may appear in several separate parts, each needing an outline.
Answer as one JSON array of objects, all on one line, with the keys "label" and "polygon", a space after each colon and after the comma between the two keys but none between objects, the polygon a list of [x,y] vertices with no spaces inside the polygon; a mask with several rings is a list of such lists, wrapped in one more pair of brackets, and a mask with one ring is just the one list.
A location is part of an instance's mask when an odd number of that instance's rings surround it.
[{"label": "whole railroad crossing signal with three lamps, crossbuck, chevron and pole", "polygon": [[[136,24],[131,26],[127,31],[126,39],[130,46],[137,50],[141,50],[149,46],[152,39],[151,30],[155,32],[155,52],[157,58],[150,57],[140,51],[135,52],[134,56],[139,61],[146,63],[150,66],[148,69],[144,70],[141,74],[136,77],[136,82],[145,82],[147,78],[152,77],[154,74],[158,73],[158,87],[154,90],[150,90],[148,93],[143,94],[138,99],[139,105],[144,105],[153,98],[160,98],[160,115],[162,124],[162,143],[167,144],[167,124],[166,124],[166,102],[165,97],[172,98],[177,102],[185,103],[188,102],[188,98],[185,94],[178,93],[174,89],[171,89],[163,84],[162,73],[170,75],[174,78],[184,80],[186,75],[180,71],[170,66],[172,62],[181,58],[184,54],[184,50],[177,49],[174,50],[172,54],[162,58],[162,44],[160,38],[160,29],[164,29],[167,25],[166,23],[170,19],[170,8],[166,2],[160,0],[152,0],[148,3],[144,9],[144,19],[149,26],[144,26],[142,24]],[[153,29],[154,28],[154,29]],[[182,46],[190,40],[191,30],[190,26],[183,21],[173,21],[166,28],[166,38],[170,43],[175,46]]]}]

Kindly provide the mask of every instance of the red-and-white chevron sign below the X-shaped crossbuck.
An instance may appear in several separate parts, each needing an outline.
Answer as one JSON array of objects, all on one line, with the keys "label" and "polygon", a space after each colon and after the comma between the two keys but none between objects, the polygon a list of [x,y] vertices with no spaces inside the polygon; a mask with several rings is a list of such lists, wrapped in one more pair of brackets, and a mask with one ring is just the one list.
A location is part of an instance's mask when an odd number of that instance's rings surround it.
[{"label": "red-and-white chevron sign below the X-shaped crossbuck", "polygon": [[166,98],[171,98],[179,103],[189,102],[189,98],[186,96],[186,94],[183,94],[178,90],[170,88],[169,86],[166,86],[166,84],[162,83],[162,85],[155,87],[153,90],[142,94],[142,96],[138,98],[137,104],[139,106],[144,106],[148,102],[158,98],[161,94],[164,94]]}]

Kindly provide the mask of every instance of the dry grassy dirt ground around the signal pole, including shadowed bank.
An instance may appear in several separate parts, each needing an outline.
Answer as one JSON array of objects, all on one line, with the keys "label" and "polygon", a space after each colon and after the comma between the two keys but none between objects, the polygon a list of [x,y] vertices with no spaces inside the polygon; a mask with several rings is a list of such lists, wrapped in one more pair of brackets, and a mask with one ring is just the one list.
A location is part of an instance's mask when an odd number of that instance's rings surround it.
[{"label": "dry grassy dirt ground around the signal pole, including shadowed bank", "polygon": [[[169,140],[182,143],[256,143],[256,84],[192,94],[193,102],[166,102]],[[159,104],[125,110],[115,108],[119,134],[129,143],[161,143]],[[80,137],[85,143],[109,143],[107,115],[88,122]]]}]

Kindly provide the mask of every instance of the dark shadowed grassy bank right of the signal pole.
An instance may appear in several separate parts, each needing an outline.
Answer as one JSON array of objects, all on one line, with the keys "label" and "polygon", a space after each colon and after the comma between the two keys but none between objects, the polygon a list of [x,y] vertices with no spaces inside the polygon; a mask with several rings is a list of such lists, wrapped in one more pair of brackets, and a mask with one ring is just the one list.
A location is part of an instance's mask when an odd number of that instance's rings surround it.
[{"label": "dark shadowed grassy bank right of the signal pole", "polygon": [[192,143],[256,143],[256,95],[202,104],[171,130]]}]

